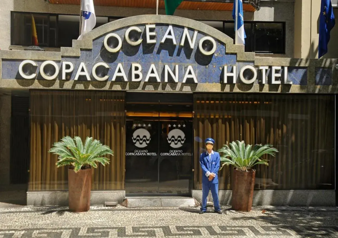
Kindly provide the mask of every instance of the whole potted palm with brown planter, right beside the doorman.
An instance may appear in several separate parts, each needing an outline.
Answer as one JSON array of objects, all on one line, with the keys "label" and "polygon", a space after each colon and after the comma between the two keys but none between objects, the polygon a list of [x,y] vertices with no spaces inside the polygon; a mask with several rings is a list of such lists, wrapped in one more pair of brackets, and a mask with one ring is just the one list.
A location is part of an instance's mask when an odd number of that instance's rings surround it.
[{"label": "whole potted palm with brown planter, right beside the doorman", "polygon": [[252,197],[254,195],[256,170],[252,169],[255,165],[268,166],[267,159],[262,159],[263,155],[275,156],[278,152],[272,145],[246,145],[244,141],[224,145],[218,150],[221,154],[221,167],[224,165],[233,166],[231,186],[232,186],[232,209],[236,211],[249,212],[252,207]]}]

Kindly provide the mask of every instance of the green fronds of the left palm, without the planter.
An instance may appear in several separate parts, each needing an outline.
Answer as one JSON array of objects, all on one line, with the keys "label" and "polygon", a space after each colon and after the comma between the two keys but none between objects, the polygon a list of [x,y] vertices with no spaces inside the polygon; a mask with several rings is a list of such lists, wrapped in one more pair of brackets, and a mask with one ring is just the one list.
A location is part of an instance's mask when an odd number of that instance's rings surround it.
[{"label": "green fronds of the left palm, without the planter", "polygon": [[102,145],[99,140],[87,137],[84,145],[80,137],[65,136],[60,142],[54,143],[49,152],[58,155],[56,166],[71,165],[75,173],[86,166],[97,168],[97,162],[103,166],[109,164],[109,159],[105,155],[113,155],[113,151],[106,145]]}]

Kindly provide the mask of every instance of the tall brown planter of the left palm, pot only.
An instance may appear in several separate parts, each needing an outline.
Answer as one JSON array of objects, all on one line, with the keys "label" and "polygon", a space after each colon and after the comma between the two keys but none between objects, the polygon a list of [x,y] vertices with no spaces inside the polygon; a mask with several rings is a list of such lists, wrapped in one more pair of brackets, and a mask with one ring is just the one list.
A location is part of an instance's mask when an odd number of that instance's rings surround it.
[{"label": "tall brown planter of the left palm, pot only", "polygon": [[75,173],[68,169],[69,210],[86,212],[90,208],[90,190],[92,185],[92,169],[84,169]]}]

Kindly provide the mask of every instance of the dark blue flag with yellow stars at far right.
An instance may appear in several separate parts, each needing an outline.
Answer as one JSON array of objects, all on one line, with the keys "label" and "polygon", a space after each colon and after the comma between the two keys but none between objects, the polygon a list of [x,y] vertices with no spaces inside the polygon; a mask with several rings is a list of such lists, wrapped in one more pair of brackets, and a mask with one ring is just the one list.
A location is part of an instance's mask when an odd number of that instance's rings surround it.
[{"label": "dark blue flag with yellow stars at far right", "polygon": [[335,24],[335,15],[333,14],[331,0],[321,0],[319,15],[318,59],[328,52],[330,31],[335,26]]}]

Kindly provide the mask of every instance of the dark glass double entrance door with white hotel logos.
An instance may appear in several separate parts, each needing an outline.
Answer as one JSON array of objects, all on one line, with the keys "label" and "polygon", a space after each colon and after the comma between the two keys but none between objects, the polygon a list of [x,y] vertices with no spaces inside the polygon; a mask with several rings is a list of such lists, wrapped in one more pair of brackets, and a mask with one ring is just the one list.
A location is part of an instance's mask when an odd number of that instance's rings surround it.
[{"label": "dark glass double entrance door with white hotel logos", "polygon": [[[126,195],[190,195],[193,177],[192,106],[154,100],[154,93],[150,93],[151,96],[141,94],[143,100],[155,102],[134,100],[126,106]],[[167,97],[161,98],[168,100]]]}]

